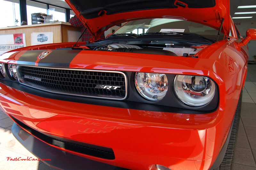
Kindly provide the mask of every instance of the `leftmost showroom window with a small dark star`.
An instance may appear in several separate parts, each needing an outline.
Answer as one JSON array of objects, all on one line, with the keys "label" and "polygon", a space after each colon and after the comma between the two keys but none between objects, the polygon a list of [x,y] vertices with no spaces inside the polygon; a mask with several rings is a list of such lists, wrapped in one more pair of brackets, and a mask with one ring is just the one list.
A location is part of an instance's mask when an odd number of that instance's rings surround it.
[{"label": "leftmost showroom window with a small dark star", "polygon": [[0,0],[0,4],[2,6],[0,10],[0,16],[2,16],[0,27],[20,26],[19,0]]}]

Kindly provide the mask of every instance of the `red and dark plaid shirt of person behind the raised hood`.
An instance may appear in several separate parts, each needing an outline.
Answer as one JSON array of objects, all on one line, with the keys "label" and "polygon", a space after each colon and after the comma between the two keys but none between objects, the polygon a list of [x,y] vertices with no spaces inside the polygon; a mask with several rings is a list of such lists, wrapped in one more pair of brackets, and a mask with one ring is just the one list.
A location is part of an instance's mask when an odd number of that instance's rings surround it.
[{"label": "red and dark plaid shirt of person behind the raised hood", "polygon": [[[82,21],[75,15],[74,17],[71,17],[69,19],[69,23],[72,26],[75,27],[80,27],[82,29],[82,32],[84,31],[84,29],[86,29],[86,27],[84,26],[84,24],[82,23]],[[89,41],[92,38],[92,35],[90,34],[90,32],[86,29],[84,34],[82,35],[82,41]],[[104,34],[100,35],[100,39],[105,39]]]}]

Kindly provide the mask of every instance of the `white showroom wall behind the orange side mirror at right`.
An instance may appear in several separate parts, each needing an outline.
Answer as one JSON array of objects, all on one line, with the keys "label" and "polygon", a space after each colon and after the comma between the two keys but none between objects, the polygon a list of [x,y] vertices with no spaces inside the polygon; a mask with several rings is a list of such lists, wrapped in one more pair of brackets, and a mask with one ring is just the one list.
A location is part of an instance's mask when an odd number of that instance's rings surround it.
[{"label": "white showroom wall behind the orange side mirror at right", "polygon": [[[250,28],[256,28],[256,21],[238,21],[234,19],[237,29],[243,37],[246,37],[246,31]],[[250,41],[248,43],[249,48],[249,61],[254,61],[252,56],[256,55],[256,41]]]}]

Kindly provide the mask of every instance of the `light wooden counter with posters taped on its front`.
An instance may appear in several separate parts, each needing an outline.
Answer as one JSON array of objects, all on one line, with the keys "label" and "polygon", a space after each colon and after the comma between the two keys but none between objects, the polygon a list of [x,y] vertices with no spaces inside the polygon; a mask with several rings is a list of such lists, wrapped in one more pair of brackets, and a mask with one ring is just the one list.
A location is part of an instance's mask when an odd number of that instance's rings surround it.
[{"label": "light wooden counter with posters taped on its front", "polygon": [[3,34],[26,34],[26,46],[31,45],[31,33],[33,32],[53,32],[53,43],[68,42],[67,30],[80,31],[81,28],[73,27],[67,22],[53,22],[47,24],[34,24],[24,26],[13,26],[0,28],[0,35]]}]

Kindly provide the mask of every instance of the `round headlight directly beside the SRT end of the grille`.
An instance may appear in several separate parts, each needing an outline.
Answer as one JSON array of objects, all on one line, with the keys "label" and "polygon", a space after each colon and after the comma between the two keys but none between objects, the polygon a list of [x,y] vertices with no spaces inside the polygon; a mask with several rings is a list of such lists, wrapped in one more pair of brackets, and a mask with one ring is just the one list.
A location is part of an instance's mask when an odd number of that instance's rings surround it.
[{"label": "round headlight directly beside the SRT end of the grille", "polygon": [[135,74],[135,86],[141,96],[148,100],[156,101],[162,99],[168,89],[168,80],[162,73]]}]

